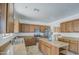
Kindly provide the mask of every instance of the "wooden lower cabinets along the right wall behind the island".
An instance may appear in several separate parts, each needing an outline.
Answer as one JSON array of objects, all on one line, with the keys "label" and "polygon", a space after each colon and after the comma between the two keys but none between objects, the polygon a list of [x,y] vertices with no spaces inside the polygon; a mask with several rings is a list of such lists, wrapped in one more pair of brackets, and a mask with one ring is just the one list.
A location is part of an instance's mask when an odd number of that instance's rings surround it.
[{"label": "wooden lower cabinets along the right wall behind the island", "polygon": [[[75,39],[68,39],[68,38],[59,38],[59,41],[63,41],[63,42],[66,42],[66,43],[69,43],[69,46],[68,46],[68,50],[69,51],[72,51],[74,53],[79,53],[79,43],[78,43],[78,40],[75,40]],[[62,40],[63,39],[63,40]]]}]

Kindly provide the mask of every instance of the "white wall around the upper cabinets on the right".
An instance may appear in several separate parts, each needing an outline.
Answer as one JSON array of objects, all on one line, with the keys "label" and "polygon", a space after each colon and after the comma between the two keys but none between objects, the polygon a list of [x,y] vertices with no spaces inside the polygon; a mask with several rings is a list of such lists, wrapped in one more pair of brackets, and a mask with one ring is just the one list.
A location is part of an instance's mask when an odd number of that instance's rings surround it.
[{"label": "white wall around the upper cabinets on the right", "polygon": [[[60,27],[60,23],[74,20],[74,19],[79,19],[79,14],[76,14],[76,15],[73,15],[67,18],[63,18],[58,21],[54,21],[50,23],[52,32],[54,32],[54,27]],[[79,33],[56,33],[54,32],[54,34],[61,34],[62,36],[65,36],[65,37],[79,37]]]}]

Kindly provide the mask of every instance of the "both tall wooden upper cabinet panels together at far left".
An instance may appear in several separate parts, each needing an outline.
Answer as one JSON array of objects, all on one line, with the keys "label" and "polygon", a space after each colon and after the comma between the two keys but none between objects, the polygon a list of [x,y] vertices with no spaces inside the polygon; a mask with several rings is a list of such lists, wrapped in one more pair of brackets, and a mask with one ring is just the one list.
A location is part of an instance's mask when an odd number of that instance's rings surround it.
[{"label": "both tall wooden upper cabinet panels together at far left", "polygon": [[14,32],[13,14],[10,12],[13,9],[10,7],[8,3],[0,3],[0,33]]}]

